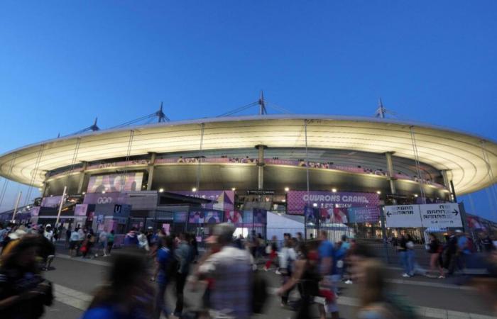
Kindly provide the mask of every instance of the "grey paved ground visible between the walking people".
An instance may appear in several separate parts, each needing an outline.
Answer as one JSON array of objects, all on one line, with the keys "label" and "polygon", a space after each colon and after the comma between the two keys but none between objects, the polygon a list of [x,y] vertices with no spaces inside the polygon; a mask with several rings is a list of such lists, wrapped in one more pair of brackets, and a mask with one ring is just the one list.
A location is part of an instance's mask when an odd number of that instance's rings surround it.
[{"label": "grey paved ground visible between the walking people", "polygon": [[[55,284],[55,304],[48,308],[44,318],[71,319],[79,318],[91,300],[92,291],[102,282],[108,269],[109,259],[70,259],[67,255],[59,254],[53,263],[55,269],[46,272],[48,279]],[[400,270],[389,268],[391,289],[400,293],[408,302],[417,307],[421,318],[479,318],[490,319],[493,316],[491,308],[481,301],[479,294],[470,286],[459,286],[459,280],[429,279],[415,276],[403,279]],[[274,296],[279,286],[279,277],[274,272],[263,272],[271,286],[271,298],[264,315],[256,318],[291,318],[293,312],[280,307],[278,298]],[[339,310],[342,318],[355,318],[357,310],[356,286],[340,285]],[[172,294],[172,293],[171,293]],[[197,298],[190,294],[187,298]]]}]

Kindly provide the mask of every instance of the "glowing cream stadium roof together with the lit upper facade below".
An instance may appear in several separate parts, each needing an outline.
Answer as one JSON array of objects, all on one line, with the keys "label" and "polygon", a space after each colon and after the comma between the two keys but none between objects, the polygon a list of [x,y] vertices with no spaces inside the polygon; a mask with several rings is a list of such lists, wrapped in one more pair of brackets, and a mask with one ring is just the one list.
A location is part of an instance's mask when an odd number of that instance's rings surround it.
[{"label": "glowing cream stadium roof together with the lit upper facade below", "polygon": [[[386,152],[393,153],[399,194],[418,193],[421,179],[427,196],[441,198],[447,180],[458,194],[496,181],[488,167],[497,169],[497,145],[475,135],[386,119],[288,115],[158,123],[48,140],[2,155],[0,174],[46,184],[46,194],[61,194],[64,186],[70,194],[85,191],[90,176],[109,172],[143,172],[143,186],[155,190],[189,190],[197,181],[201,189],[257,189],[256,145],[266,147],[263,188],[276,191],[306,189],[307,164],[311,190],[388,192]],[[192,159],[199,156],[200,165]]]}]

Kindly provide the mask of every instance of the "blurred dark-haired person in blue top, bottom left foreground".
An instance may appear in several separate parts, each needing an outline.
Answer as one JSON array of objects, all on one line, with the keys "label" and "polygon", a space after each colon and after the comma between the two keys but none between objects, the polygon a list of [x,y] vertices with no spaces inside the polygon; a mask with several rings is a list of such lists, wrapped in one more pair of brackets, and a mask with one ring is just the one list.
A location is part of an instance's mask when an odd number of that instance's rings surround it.
[{"label": "blurred dark-haired person in blue top, bottom left foreground", "polygon": [[148,263],[136,248],[114,257],[107,283],[95,293],[81,319],[148,319],[152,317],[153,287]]}]

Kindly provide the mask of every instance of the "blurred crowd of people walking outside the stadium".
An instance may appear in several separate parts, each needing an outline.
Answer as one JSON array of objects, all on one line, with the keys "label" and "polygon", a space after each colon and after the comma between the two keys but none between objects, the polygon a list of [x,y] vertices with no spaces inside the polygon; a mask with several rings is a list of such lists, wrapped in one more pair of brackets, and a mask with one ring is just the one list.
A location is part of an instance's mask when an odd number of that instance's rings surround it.
[{"label": "blurred crowd of people walking outside the stadium", "polygon": [[[54,233],[51,225],[0,226],[1,318],[40,318],[53,302],[52,284],[42,274],[55,256]],[[340,281],[357,287],[356,318],[415,318],[413,308],[388,289],[386,266],[368,247],[346,235],[333,242],[328,235],[320,231],[317,238],[305,240],[302,233],[285,233],[282,241],[275,236],[266,241],[255,230],[246,238],[235,237],[233,225],[220,223],[200,255],[190,233],[131,228],[82,319],[251,318],[265,309],[264,271],[271,270],[280,276],[280,306],[294,310],[295,318],[339,318]],[[76,227],[67,230],[66,242],[73,257],[108,256],[114,232]],[[403,233],[397,244],[404,275],[411,276],[413,238]],[[439,277],[454,274],[471,250],[464,233],[449,231],[444,242],[430,235],[430,271]],[[489,246],[488,252],[494,254],[494,249]],[[187,290],[202,295],[196,306],[190,301],[185,307]],[[174,296],[166,298],[170,293]],[[173,307],[166,300],[174,300]],[[26,302],[33,307],[23,307]]]}]

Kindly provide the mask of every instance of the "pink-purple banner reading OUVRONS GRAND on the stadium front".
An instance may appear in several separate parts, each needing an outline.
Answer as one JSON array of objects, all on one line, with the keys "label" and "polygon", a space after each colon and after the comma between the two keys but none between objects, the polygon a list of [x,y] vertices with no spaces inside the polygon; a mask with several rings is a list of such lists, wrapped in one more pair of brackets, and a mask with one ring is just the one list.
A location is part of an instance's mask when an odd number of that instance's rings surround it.
[{"label": "pink-purple banner reading OUVRONS GRAND on the stadium front", "polygon": [[339,207],[373,207],[379,204],[376,193],[354,193],[329,191],[289,191],[287,194],[288,213],[303,215],[304,207],[309,203],[316,208]]}]

